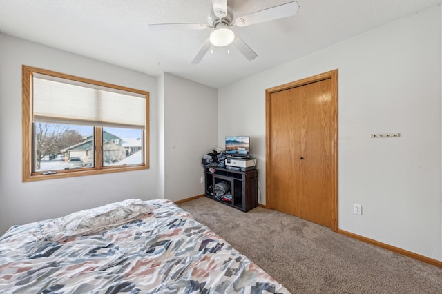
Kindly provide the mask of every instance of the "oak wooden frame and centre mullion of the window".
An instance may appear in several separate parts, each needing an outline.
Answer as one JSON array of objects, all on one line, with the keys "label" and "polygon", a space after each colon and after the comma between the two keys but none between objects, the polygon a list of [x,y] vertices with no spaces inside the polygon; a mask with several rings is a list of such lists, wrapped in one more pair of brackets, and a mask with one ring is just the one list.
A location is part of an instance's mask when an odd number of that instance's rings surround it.
[{"label": "oak wooden frame and centre mullion of the window", "polygon": [[[144,141],[144,163],[133,166],[103,166],[103,153],[102,153],[102,127],[94,126],[94,141],[95,151],[94,160],[95,167],[81,168],[72,170],[57,170],[55,173],[34,172],[33,171],[33,159],[34,159],[34,144],[33,144],[33,110],[32,110],[32,75],[33,73],[39,73],[42,75],[50,75],[54,77],[61,77],[63,79],[70,79],[73,81],[81,81],[87,84],[93,84],[97,86],[104,86],[108,88],[114,88],[117,90],[124,90],[128,92],[135,92],[137,94],[145,95],[146,97],[146,123],[143,130]],[[53,72],[51,70],[44,70],[41,68],[34,68],[31,66],[22,66],[22,135],[23,135],[23,161],[22,161],[22,176],[23,182],[39,181],[44,179],[60,179],[65,177],[80,177],[84,175],[101,175],[105,173],[121,173],[132,170],[145,170],[149,168],[149,92],[136,90],[133,88],[127,88],[123,86],[117,86],[114,84],[104,83],[102,81],[95,81],[92,79],[86,79],[82,77],[75,77],[73,75],[66,75],[60,72]],[[45,175],[44,175],[45,173]]]}]

